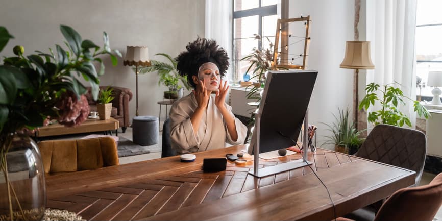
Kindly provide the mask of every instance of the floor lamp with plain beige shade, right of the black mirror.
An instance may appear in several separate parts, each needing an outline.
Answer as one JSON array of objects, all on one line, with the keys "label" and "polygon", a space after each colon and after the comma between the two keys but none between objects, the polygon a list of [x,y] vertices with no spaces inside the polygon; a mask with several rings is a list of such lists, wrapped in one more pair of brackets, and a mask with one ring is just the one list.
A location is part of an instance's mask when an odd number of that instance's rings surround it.
[{"label": "floor lamp with plain beige shade, right of the black mirror", "polygon": [[355,91],[353,93],[354,102],[354,124],[358,130],[358,74],[360,69],[375,69],[370,56],[370,41],[347,41],[346,54],[344,60],[339,65],[340,68],[356,69],[354,75]]}]

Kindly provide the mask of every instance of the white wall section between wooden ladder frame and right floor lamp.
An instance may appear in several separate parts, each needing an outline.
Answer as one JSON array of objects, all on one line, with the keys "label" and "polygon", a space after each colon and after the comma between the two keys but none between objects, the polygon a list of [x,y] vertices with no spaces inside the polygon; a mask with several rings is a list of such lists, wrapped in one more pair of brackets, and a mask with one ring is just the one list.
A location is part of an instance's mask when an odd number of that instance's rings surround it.
[{"label": "white wall section between wooden ladder frame and right floor lamp", "polygon": [[[362,6],[361,6],[362,7]],[[289,17],[310,15],[308,69],[318,71],[310,100],[309,122],[318,126],[318,145],[324,142],[326,126],[332,124],[337,108],[352,110],[353,70],[341,69],[346,41],[353,40],[354,0],[290,0]],[[352,113],[352,112],[351,112]],[[333,149],[334,146],[323,146]]]}]

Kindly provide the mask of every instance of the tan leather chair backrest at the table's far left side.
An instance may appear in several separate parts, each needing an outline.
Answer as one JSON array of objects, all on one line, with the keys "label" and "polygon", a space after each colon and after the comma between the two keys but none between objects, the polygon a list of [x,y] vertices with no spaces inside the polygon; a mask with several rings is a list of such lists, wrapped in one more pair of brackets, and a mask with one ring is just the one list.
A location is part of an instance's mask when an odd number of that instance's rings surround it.
[{"label": "tan leather chair backrest at the table's far left side", "polygon": [[38,143],[45,173],[71,172],[119,165],[115,140],[100,137]]}]

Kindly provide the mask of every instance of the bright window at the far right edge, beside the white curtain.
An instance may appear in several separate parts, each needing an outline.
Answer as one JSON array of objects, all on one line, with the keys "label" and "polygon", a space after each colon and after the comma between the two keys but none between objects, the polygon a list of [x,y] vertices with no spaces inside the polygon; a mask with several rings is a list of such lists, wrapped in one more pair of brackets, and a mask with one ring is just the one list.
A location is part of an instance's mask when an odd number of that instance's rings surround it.
[{"label": "bright window at the far right edge, beside the white curtain", "polygon": [[[420,77],[416,94],[433,96],[431,87],[426,86],[428,71],[442,71],[442,1],[419,0],[416,15],[416,75]],[[428,100],[428,99],[425,99]]]}]

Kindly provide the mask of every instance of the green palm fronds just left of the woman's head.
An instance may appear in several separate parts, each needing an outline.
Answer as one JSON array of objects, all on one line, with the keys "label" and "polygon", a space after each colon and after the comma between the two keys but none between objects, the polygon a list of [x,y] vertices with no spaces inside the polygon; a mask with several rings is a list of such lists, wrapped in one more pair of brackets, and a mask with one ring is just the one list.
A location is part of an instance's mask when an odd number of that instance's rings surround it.
[{"label": "green palm fronds just left of the woman's head", "polygon": [[160,80],[158,85],[164,85],[173,90],[180,89],[181,85],[178,85],[179,80],[184,85],[187,90],[191,89],[191,86],[187,82],[187,76],[180,76],[177,70],[177,60],[170,57],[170,55],[165,53],[158,53],[156,55],[163,56],[167,58],[170,63],[151,60],[151,66],[149,67],[141,67],[140,73],[150,73],[157,71],[160,76]]}]

